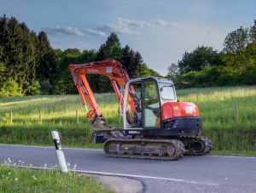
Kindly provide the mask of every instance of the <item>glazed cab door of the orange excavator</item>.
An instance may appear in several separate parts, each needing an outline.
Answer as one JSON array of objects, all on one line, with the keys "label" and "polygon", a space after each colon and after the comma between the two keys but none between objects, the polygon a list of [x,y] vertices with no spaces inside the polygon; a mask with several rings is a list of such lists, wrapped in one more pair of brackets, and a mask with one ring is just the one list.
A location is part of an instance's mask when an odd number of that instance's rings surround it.
[{"label": "glazed cab door of the orange excavator", "polygon": [[160,128],[160,96],[157,82],[143,80],[143,128]]}]

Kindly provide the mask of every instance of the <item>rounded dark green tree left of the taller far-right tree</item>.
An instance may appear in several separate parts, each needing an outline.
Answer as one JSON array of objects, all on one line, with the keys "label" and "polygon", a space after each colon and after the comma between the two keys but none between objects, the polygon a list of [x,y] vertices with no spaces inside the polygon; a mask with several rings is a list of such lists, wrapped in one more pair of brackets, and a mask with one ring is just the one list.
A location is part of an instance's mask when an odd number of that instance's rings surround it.
[{"label": "rounded dark green tree left of the taller far-right tree", "polygon": [[181,74],[188,71],[200,71],[205,65],[224,65],[217,50],[212,47],[197,47],[191,53],[185,52],[183,59],[177,61]]}]

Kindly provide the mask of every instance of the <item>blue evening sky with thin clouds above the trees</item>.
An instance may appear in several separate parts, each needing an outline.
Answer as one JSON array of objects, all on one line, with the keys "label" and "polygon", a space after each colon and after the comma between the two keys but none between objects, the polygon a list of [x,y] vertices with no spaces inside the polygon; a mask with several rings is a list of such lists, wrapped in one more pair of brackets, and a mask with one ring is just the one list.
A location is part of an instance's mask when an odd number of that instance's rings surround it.
[{"label": "blue evening sky with thin clouds above the trees", "polygon": [[224,38],[253,26],[254,0],[0,0],[0,15],[45,31],[53,48],[96,49],[111,32],[166,76],[198,46],[223,49]]}]

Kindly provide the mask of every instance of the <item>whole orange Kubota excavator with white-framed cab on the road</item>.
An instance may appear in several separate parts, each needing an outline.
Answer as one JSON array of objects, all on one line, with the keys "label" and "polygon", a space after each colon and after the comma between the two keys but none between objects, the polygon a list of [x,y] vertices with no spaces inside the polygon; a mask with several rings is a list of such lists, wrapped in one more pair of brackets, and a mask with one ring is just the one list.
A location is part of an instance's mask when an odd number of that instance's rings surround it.
[{"label": "whole orange Kubota excavator with white-framed cab on the road", "polygon": [[[130,80],[125,67],[116,60],[71,64],[69,70],[94,128],[92,142],[104,143],[107,156],[174,161],[184,155],[201,156],[212,150],[211,140],[201,136],[198,107],[177,100],[172,80],[160,77]],[[123,128],[113,128],[102,115],[87,75],[109,78],[121,106]]]}]

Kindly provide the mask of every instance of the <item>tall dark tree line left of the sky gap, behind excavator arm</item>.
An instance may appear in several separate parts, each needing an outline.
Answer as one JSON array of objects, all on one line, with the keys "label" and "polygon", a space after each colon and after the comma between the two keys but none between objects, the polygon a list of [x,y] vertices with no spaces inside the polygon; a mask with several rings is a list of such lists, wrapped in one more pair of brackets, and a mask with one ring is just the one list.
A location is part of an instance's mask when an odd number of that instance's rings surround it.
[{"label": "tall dark tree line left of the sky gap, behind excavator arm", "polygon": [[[131,78],[160,76],[148,68],[139,52],[124,48],[112,33],[99,50],[53,49],[47,34],[31,31],[15,17],[0,17],[0,97],[35,94],[77,94],[69,64],[118,60]],[[112,91],[107,77],[88,77],[94,92]]]}]

